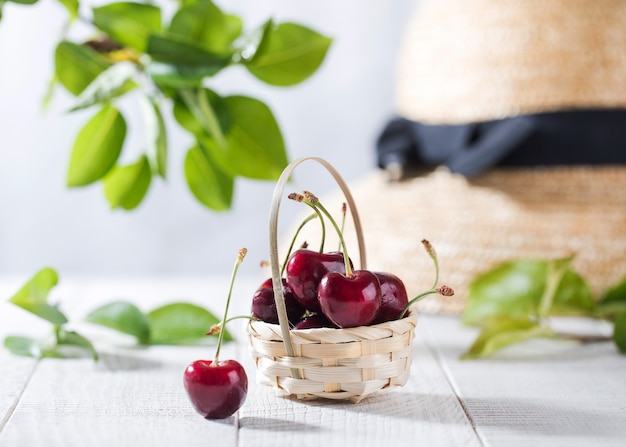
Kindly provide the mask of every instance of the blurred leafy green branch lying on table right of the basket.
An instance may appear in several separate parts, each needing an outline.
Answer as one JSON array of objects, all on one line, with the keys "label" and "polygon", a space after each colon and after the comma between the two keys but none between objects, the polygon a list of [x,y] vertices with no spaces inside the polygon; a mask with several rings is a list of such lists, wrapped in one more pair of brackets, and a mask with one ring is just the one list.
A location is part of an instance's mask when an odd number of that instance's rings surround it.
[{"label": "blurred leafy green branch lying on table right of the basket", "polygon": [[477,276],[470,284],[462,320],[482,330],[462,358],[487,357],[533,338],[589,341],[584,335],[559,334],[550,326],[550,316],[563,315],[612,322],[612,339],[626,354],[626,278],[596,302],[571,261],[572,257],[514,260]]}]

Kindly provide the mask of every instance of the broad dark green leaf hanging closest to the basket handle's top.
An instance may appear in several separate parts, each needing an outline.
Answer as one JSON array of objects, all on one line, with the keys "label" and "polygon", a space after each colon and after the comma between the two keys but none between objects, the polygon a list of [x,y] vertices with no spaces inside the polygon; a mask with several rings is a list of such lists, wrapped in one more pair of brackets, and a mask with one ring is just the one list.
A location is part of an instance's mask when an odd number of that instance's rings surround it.
[{"label": "broad dark green leaf hanging closest to the basket handle's top", "polygon": [[[283,137],[269,107],[246,96],[229,96],[224,102],[231,119],[225,132],[231,174],[258,180],[277,179],[288,160]],[[207,140],[213,152],[219,149],[216,143],[214,139]]]}]

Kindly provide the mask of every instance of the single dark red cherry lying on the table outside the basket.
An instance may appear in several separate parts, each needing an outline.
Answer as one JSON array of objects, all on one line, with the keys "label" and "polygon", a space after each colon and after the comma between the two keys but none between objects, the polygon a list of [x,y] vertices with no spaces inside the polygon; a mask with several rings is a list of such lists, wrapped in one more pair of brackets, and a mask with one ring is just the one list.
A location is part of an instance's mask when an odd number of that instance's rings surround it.
[{"label": "single dark red cherry lying on the table outside the basket", "polygon": [[236,360],[196,360],[187,366],[184,384],[194,409],[207,419],[234,414],[248,395],[248,376]]}]

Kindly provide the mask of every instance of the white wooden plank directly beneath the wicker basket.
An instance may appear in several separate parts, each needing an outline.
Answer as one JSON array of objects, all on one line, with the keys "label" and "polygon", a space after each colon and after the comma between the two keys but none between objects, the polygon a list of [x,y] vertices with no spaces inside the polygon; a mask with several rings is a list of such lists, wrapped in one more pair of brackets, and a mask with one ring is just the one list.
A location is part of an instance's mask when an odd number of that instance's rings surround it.
[{"label": "white wooden plank directly beneath the wicker basket", "polygon": [[[418,328],[420,325],[418,324]],[[480,442],[450,384],[426,347],[414,340],[414,361],[407,385],[358,404],[328,400],[302,402],[277,396],[254,383],[240,410],[242,446],[281,445],[437,445],[478,446]]]}]

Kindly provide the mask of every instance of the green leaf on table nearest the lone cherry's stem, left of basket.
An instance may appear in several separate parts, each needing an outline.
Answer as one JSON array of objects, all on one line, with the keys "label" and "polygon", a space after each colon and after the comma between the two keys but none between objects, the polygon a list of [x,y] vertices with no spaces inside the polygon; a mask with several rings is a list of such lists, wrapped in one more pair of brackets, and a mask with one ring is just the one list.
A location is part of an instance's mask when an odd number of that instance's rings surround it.
[{"label": "green leaf on table nearest the lone cherry's stem, left of basket", "polygon": [[[190,303],[171,303],[148,314],[152,344],[187,344],[206,340],[206,333],[220,320],[207,309]],[[232,340],[228,331],[224,340]]]}]

